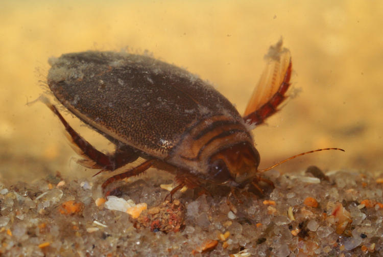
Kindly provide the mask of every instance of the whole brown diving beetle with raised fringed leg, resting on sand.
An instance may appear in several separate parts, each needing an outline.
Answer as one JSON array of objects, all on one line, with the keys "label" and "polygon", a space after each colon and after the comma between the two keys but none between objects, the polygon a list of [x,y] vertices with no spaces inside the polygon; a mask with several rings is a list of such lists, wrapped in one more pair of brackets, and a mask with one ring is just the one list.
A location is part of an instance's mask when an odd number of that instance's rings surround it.
[{"label": "whole brown diving beetle with raised fringed leg, resting on sand", "polygon": [[258,188],[260,157],[250,131],[285,100],[292,71],[290,51],[282,48],[281,40],[266,57],[268,64],[243,116],[206,81],[149,56],[88,51],[51,59],[47,84],[54,96],[115,145],[110,154],[89,144],[55,105],[45,104],[85,157],[81,165],[104,172],[145,159],[107,179],[103,190],[150,167],[176,175],[178,186],[171,195],[202,181],[238,188],[252,183]]}]

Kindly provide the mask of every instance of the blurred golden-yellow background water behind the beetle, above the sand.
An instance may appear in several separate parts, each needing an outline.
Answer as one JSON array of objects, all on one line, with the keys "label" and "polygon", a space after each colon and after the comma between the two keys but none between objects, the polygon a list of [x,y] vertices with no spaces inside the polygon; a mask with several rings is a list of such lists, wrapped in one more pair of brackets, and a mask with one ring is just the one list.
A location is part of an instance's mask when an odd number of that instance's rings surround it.
[{"label": "blurred golden-yellow background water behind the beetle, above the sand", "polygon": [[[94,174],[77,167],[53,113],[41,103],[26,105],[45,90],[49,57],[147,50],[209,80],[243,113],[263,56],[280,37],[292,53],[295,97],[254,130],[260,168],[303,151],[340,147],[346,152],[306,155],[277,169],[381,171],[381,10],[382,1],[1,1],[1,177]],[[99,145],[101,136],[66,116]]]}]

